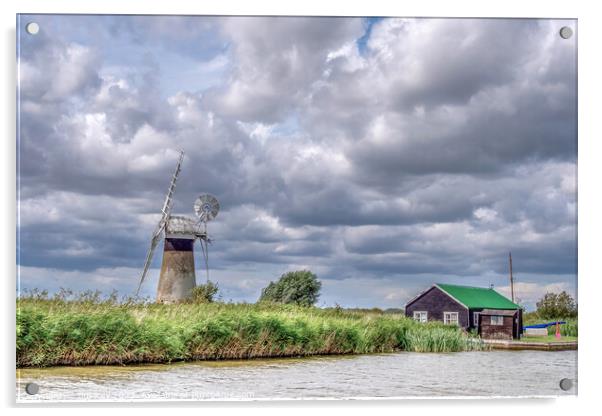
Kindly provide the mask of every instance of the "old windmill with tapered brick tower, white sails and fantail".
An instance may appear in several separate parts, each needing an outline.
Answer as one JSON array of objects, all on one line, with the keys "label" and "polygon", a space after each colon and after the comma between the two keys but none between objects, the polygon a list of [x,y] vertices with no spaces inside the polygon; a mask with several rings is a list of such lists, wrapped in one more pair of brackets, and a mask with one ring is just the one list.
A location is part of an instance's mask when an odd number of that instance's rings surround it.
[{"label": "old windmill with tapered brick tower, white sails and fantail", "polygon": [[194,271],[194,242],[199,239],[203,250],[207,280],[209,280],[209,256],[207,236],[207,222],[217,216],[219,203],[217,199],[209,194],[203,194],[197,198],[194,210],[199,217],[195,220],[182,215],[172,215],[173,195],[176,189],[176,181],[182,168],[184,152],[180,151],[180,157],[176,170],[171,178],[169,190],[161,209],[161,219],[157,224],[151,237],[151,244],[146,255],[144,269],[140,276],[136,296],[153,259],[153,254],[161,238],[164,238],[163,260],[161,262],[161,274],[157,287],[157,302],[177,302],[192,295],[192,289],[196,286]]}]

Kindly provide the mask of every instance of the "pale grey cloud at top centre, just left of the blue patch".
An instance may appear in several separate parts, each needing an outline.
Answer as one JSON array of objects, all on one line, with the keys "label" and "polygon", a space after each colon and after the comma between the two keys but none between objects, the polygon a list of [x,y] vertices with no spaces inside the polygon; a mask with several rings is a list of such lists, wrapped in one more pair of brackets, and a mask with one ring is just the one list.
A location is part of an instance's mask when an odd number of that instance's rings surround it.
[{"label": "pale grey cloud at top centre, just left of the blue patch", "polygon": [[237,64],[230,84],[209,105],[239,120],[274,122],[294,111],[324,70],[328,53],[363,34],[361,19],[266,17],[224,19]]}]

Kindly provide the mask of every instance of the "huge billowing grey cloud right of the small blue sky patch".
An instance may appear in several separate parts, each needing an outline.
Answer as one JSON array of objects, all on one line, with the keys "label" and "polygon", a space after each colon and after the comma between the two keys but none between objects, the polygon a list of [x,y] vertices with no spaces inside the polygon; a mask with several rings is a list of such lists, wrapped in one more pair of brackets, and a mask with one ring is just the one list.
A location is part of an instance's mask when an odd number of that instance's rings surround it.
[{"label": "huge billowing grey cloud right of the small blue sky patch", "polygon": [[359,69],[335,66],[322,80],[304,125],[317,138],[349,137],[346,154],[371,184],[571,160],[575,45],[563,43],[557,26],[384,20],[373,28],[373,53]]}]

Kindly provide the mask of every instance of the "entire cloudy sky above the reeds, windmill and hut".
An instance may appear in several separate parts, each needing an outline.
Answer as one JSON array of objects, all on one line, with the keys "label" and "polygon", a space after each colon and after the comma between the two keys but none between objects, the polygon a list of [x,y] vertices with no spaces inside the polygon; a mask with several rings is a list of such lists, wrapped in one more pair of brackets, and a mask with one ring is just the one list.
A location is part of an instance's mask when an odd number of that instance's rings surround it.
[{"label": "entire cloudy sky above the reeds, windmill and hut", "polygon": [[[28,35],[35,21],[40,32]],[[21,16],[21,288],[132,294],[178,149],[229,301],[576,290],[574,21]],[[155,255],[143,295],[153,296]],[[197,280],[202,281],[197,253]]]}]

